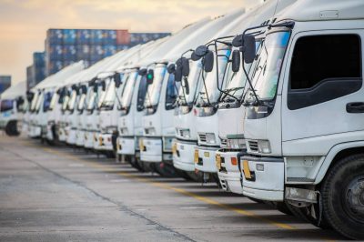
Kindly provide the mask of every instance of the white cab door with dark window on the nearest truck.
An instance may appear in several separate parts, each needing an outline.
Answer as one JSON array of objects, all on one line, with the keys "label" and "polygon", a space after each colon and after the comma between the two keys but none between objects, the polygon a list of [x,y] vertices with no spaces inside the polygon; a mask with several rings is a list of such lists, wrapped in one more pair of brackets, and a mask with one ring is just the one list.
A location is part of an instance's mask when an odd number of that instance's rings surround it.
[{"label": "white cab door with dark window on the nearest truck", "polygon": [[[362,37],[357,30],[294,36],[282,96],[285,156],[325,156],[364,130]],[[309,142],[308,142],[309,141]]]}]

